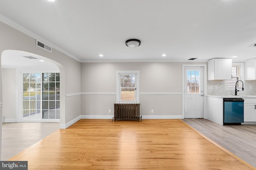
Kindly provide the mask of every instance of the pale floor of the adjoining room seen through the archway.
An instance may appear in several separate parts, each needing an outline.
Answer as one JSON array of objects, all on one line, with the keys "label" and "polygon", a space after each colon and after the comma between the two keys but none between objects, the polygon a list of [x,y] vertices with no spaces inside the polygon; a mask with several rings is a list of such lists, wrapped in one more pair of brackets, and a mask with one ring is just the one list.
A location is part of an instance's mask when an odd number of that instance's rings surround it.
[{"label": "pale floor of the adjoining room seen through the archway", "polygon": [[8,160],[60,129],[60,123],[2,123],[1,160]]}]

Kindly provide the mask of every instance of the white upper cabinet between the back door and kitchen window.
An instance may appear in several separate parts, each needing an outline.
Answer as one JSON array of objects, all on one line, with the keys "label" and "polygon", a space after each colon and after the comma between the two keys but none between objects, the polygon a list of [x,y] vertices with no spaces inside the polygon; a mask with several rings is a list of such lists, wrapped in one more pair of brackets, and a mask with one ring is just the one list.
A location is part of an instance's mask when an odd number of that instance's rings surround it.
[{"label": "white upper cabinet between the back door and kitchen window", "polygon": [[232,59],[210,59],[207,64],[208,80],[231,80]]}]

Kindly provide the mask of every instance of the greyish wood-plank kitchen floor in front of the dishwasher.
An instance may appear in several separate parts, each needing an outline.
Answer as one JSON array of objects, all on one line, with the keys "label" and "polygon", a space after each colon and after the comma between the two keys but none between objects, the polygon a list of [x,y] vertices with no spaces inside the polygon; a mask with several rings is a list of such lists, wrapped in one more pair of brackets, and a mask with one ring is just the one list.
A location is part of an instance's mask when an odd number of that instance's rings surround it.
[{"label": "greyish wood-plank kitchen floor in front of the dishwasher", "polygon": [[222,126],[207,119],[182,121],[256,168],[256,125]]}]

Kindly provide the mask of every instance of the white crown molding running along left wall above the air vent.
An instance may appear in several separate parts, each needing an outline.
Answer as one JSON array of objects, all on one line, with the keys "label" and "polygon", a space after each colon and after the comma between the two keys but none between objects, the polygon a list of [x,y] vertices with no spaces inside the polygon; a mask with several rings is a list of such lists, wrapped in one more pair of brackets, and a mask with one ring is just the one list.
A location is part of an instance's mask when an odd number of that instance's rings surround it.
[{"label": "white crown molding running along left wall above the air vent", "polygon": [[[6,23],[7,25],[13,27],[14,29],[17,29],[18,31],[34,38],[34,39],[38,39],[44,43],[46,43],[48,46],[51,46],[52,48],[60,51],[61,53],[67,55],[68,57],[71,57],[72,59],[75,59],[76,61],[81,62],[81,59],[79,59],[78,57],[75,57],[74,55],[68,53],[67,51],[65,51],[64,49],[58,47],[57,45],[54,45],[53,43],[47,41],[46,39],[40,37],[39,35],[36,35],[35,33],[33,33],[32,31],[22,27],[21,25],[19,25],[18,23],[6,18],[5,16],[0,14],[0,21],[2,21],[3,23]],[[36,46],[36,43],[35,43]]]}]

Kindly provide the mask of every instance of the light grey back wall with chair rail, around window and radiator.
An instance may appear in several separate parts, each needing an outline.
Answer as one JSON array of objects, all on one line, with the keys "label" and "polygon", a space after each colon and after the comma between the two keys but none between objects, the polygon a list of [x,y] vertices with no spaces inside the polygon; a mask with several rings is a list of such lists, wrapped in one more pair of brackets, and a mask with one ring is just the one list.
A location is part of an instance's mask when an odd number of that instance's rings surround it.
[{"label": "light grey back wall with chair rail, around window and radiator", "polygon": [[116,70],[140,70],[142,118],[182,118],[182,64],[188,63],[82,63],[82,116],[112,118],[116,102]]}]

